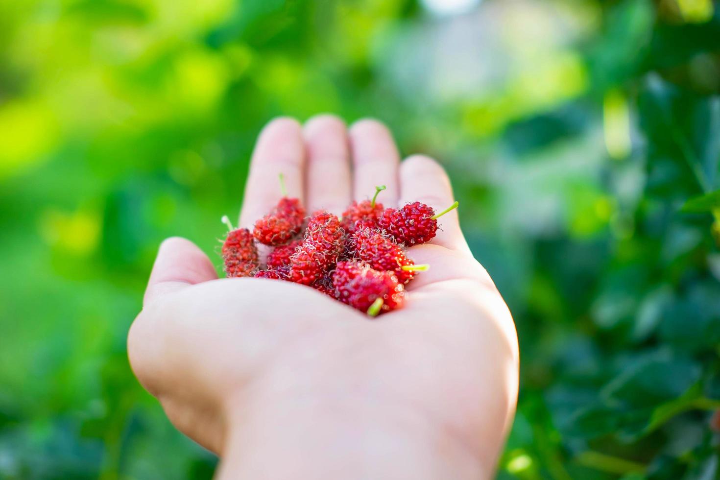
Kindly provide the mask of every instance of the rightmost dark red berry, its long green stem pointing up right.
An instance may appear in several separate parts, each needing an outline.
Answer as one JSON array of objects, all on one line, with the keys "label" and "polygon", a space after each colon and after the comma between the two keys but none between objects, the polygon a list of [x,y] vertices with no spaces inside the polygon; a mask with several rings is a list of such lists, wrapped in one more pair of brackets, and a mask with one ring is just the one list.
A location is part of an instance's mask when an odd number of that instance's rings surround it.
[{"label": "rightmost dark red berry, its long green stem pointing up right", "polygon": [[433,219],[435,211],[426,204],[415,201],[399,209],[385,209],[378,219],[378,225],[395,238],[397,243],[415,245],[426,243],[435,237],[438,221]]}]

